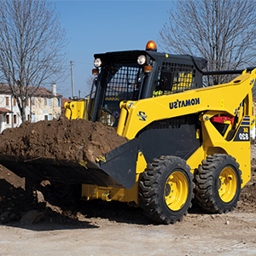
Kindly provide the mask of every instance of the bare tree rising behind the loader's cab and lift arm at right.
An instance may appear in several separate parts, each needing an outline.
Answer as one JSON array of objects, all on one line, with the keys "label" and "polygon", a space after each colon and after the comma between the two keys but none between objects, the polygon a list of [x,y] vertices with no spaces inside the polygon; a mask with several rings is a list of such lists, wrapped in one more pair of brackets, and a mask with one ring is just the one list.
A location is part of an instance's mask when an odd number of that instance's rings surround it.
[{"label": "bare tree rising behind the loader's cab and lift arm at right", "polygon": [[[256,1],[177,0],[160,30],[160,47],[172,53],[200,55],[207,69],[235,70],[256,64]],[[227,82],[214,76],[207,85]]]}]

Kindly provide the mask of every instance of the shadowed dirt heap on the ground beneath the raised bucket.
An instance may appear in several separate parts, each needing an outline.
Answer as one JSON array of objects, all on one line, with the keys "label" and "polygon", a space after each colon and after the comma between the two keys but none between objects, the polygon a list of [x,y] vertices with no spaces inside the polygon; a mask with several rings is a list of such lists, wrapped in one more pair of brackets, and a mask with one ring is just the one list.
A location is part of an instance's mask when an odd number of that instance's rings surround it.
[{"label": "shadowed dirt heap on the ground beneath the raised bucket", "polygon": [[0,224],[75,219],[70,206],[59,200],[49,181],[21,178],[0,165]]}]

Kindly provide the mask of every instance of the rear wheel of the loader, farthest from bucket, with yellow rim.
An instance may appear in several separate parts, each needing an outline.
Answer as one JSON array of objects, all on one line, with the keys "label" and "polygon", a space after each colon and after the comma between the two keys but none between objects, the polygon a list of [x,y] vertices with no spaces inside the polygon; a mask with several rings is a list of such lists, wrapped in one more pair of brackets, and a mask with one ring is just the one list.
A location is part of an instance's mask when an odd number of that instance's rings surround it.
[{"label": "rear wheel of the loader, farthest from bucket, with yellow rim", "polygon": [[208,155],[195,175],[195,198],[207,212],[232,211],[240,199],[241,171],[229,154]]}]

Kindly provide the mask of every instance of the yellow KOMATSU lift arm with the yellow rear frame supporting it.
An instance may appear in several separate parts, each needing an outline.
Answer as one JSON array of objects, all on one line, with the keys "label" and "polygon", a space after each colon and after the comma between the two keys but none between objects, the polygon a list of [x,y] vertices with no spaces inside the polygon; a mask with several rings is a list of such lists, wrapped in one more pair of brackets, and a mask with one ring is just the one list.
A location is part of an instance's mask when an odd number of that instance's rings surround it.
[{"label": "yellow KOMATSU lift arm with the yellow rear frame supporting it", "polygon": [[[255,81],[255,72],[256,69],[252,73],[245,72],[229,84],[188,90],[175,95],[154,97],[154,99],[145,99],[138,102],[121,102],[120,106],[125,111],[121,111],[118,133],[131,139],[137,135],[138,131],[156,119],[169,119],[189,113],[201,113],[202,145],[187,160],[188,165],[193,172],[199,166],[201,160],[206,159],[208,154],[224,153],[233,155],[242,170],[243,187],[250,180],[250,141],[228,141],[227,135],[230,130],[233,129],[237,133],[240,130],[239,128],[243,127],[243,132],[240,131],[241,136],[249,137],[249,130],[253,128],[255,123],[255,117],[252,113],[252,87]],[[240,108],[240,103],[243,100],[245,100],[245,108]],[[188,101],[190,101],[190,105],[185,106]],[[194,101],[194,104],[191,103],[192,101]],[[170,104],[176,102],[177,108],[170,107]],[[170,111],[170,108],[172,108],[172,111]],[[146,121],[140,122],[137,117],[138,109],[147,116]],[[127,114],[127,117],[122,117],[122,114],[124,116]],[[224,137],[219,134],[210,121],[213,116],[221,114],[238,115],[236,127],[230,125]],[[242,119],[244,117],[250,119],[249,125],[243,125]],[[126,118],[127,120],[124,122]]]}]

